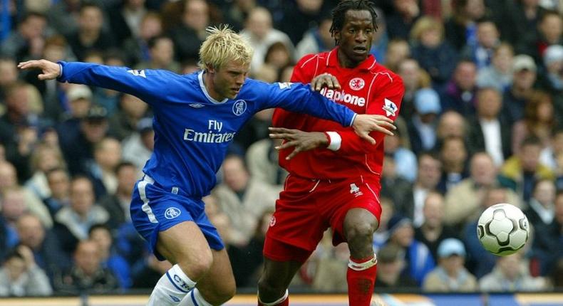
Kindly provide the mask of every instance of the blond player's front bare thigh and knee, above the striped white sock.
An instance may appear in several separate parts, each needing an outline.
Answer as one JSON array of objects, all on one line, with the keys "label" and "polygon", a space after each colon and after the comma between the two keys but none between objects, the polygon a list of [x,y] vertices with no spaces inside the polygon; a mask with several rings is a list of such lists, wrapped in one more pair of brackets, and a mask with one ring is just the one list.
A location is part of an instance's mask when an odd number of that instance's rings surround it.
[{"label": "blond player's front bare thigh and knee, above the striped white sock", "polygon": [[[188,265],[198,274],[213,263],[213,255],[205,236],[193,221],[184,221],[158,233],[158,253],[171,263]],[[195,272],[195,271],[194,271]],[[188,275],[189,276],[189,275]]]}]

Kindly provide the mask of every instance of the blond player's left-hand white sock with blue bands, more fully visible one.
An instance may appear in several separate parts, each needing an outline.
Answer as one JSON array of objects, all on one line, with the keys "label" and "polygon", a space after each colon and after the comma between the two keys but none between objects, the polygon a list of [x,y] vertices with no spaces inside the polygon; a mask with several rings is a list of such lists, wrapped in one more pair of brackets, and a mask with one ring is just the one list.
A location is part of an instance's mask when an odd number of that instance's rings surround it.
[{"label": "blond player's left-hand white sock with blue bands, more fully visible one", "polygon": [[195,282],[187,277],[179,265],[173,265],[156,283],[147,306],[177,306],[193,287]]}]

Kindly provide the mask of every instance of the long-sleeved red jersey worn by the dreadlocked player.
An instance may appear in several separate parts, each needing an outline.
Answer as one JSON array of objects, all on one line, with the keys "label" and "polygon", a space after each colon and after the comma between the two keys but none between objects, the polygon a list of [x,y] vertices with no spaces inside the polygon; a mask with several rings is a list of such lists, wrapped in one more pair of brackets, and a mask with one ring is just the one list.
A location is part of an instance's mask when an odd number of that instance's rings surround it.
[{"label": "long-sleeved red jersey worn by the dreadlocked player", "polygon": [[[321,94],[330,100],[350,107],[358,114],[386,115],[395,120],[405,91],[403,80],[369,56],[356,68],[342,68],[337,58],[338,47],[330,52],[304,56],[295,65],[291,82],[311,83],[316,75],[330,73],[341,90],[324,88]],[[361,139],[351,127],[309,115],[277,109],[273,125],[305,132],[327,132],[329,148],[301,152],[287,161],[293,148],[279,152],[279,165],[291,174],[309,179],[355,179],[381,176],[383,166],[383,137],[371,132],[376,144]]]}]

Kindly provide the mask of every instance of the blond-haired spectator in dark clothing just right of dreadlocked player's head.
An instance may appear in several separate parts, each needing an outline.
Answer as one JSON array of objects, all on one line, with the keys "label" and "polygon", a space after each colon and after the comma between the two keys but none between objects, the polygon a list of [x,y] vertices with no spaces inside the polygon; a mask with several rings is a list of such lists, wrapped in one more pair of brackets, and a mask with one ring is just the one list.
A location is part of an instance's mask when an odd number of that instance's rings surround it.
[{"label": "blond-haired spectator in dark clothing just right of dreadlocked player's head", "polygon": [[440,88],[450,78],[458,60],[455,49],[444,39],[443,24],[433,17],[421,17],[410,31],[410,40],[413,58],[428,71],[434,88]]}]

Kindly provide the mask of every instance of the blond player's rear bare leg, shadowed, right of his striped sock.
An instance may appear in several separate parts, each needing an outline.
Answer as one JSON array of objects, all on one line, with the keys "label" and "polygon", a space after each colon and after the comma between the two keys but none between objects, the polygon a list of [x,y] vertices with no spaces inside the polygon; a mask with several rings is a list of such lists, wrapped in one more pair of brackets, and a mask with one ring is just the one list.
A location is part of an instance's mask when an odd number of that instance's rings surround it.
[{"label": "blond player's rear bare leg, shadowed, right of his striped sock", "polygon": [[222,304],[230,300],[237,290],[234,283],[229,255],[225,249],[211,250],[213,264],[207,274],[197,283],[201,294],[213,305]]}]

